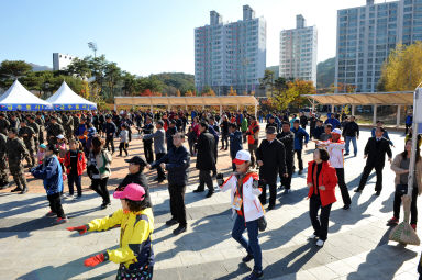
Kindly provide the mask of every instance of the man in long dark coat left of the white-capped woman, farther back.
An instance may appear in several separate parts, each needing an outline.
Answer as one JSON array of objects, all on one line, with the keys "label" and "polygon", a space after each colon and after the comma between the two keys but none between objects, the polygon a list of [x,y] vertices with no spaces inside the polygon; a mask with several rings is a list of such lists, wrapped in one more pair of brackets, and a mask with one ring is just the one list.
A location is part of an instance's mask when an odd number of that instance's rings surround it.
[{"label": "man in long dark coat left of the white-capped woman, farther back", "polygon": [[199,169],[199,186],[193,192],[202,192],[204,184],[208,187],[207,198],[211,198],[214,193],[214,186],[212,184],[211,170],[215,169],[215,138],[208,132],[208,123],[200,122],[199,131],[201,134],[196,144],[197,154],[197,169]]}]

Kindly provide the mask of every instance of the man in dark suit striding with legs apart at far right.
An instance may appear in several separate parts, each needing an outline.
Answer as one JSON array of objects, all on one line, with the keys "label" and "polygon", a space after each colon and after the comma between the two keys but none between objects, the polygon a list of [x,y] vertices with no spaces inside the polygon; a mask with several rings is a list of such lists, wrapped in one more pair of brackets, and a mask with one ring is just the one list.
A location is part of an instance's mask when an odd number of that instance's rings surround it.
[{"label": "man in dark suit striding with legs apart at far right", "polygon": [[375,131],[375,137],[370,137],[365,146],[364,158],[367,158],[366,166],[360,177],[359,187],[355,190],[355,192],[362,192],[364,190],[369,173],[375,168],[375,171],[377,173],[377,182],[375,183],[375,194],[379,195],[381,193],[382,169],[386,161],[386,154],[388,156],[388,161],[391,163],[392,158],[390,143],[388,142],[388,139],[382,137],[384,132],[384,127],[377,127],[377,130]]}]

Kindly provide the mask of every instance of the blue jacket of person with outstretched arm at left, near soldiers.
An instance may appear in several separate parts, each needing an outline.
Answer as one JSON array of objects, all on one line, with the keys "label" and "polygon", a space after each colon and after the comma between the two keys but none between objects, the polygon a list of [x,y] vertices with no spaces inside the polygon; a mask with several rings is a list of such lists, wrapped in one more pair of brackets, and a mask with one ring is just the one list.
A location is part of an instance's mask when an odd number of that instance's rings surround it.
[{"label": "blue jacket of person with outstretched arm at left, near soldiers", "polygon": [[56,156],[44,158],[42,165],[31,169],[31,173],[36,179],[43,180],[48,195],[63,191],[63,171]]}]

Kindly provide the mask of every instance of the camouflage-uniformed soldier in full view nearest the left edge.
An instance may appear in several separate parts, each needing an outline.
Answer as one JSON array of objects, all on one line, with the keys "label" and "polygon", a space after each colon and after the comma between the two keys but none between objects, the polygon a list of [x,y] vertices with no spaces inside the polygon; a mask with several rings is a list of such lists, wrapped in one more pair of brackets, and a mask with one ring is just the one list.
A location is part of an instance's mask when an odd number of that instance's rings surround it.
[{"label": "camouflage-uniformed soldier in full view nearest the left edge", "polygon": [[5,153],[9,160],[9,170],[13,176],[16,188],[12,192],[20,191],[21,194],[27,192],[26,178],[23,171],[22,159],[29,154],[23,142],[18,138],[18,130],[11,128],[9,131],[9,138],[5,143]]}]

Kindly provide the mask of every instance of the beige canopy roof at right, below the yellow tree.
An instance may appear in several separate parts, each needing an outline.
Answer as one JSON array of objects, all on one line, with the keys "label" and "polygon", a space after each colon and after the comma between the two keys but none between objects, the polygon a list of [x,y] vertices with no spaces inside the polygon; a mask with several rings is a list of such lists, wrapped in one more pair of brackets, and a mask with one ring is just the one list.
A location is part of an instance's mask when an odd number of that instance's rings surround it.
[{"label": "beige canopy roof at right, below the yellow tree", "polygon": [[356,105],[409,105],[413,104],[413,91],[397,92],[354,92],[306,94],[320,104],[356,104]]}]

